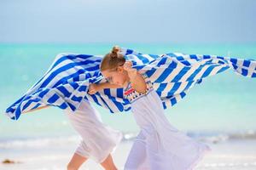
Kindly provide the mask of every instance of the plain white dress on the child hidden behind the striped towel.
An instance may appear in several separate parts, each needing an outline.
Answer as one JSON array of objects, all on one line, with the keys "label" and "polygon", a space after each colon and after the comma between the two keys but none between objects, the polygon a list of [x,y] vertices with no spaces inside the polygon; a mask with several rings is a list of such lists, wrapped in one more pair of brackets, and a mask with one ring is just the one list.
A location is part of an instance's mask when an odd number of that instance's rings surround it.
[{"label": "plain white dress on the child hidden behind the striped towel", "polygon": [[75,151],[79,156],[101,163],[122,139],[122,133],[104,125],[100,114],[86,100],[81,103],[78,110],[65,112],[73,128],[82,137]]}]

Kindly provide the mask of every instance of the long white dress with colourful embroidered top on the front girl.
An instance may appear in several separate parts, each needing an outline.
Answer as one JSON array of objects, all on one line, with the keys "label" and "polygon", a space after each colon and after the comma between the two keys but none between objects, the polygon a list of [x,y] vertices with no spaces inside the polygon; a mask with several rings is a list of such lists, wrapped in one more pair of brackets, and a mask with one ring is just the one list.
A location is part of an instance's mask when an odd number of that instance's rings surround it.
[{"label": "long white dress with colourful embroidered top on the front girl", "polygon": [[141,128],[125,163],[125,170],[190,170],[210,148],[189,138],[167,120],[160,97],[148,77],[147,93],[138,94],[131,84],[125,95]]}]

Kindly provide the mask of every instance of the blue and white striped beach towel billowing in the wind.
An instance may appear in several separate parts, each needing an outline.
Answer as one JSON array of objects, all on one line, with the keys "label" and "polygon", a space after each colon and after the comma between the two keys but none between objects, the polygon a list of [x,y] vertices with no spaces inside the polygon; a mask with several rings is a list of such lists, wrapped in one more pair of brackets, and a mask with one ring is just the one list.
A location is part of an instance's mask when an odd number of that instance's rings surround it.
[{"label": "blue and white striped beach towel billowing in the wind", "polygon": [[[121,53],[133,67],[145,73],[160,95],[164,108],[176,105],[189,88],[204,78],[231,69],[244,77],[256,77],[256,60],[236,59],[200,54],[141,54],[122,48]],[[123,96],[123,88],[87,93],[90,83],[106,82],[99,71],[102,56],[58,54],[49,70],[6,110],[14,120],[20,114],[45,105],[75,111],[83,99],[107,108],[110,112],[129,111],[131,104]]]}]

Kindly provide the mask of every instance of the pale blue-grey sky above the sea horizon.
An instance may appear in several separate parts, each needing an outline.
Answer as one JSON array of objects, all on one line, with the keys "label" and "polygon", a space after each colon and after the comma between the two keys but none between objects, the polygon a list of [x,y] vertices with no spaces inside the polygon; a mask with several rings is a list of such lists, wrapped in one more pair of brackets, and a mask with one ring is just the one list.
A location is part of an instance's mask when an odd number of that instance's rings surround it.
[{"label": "pale blue-grey sky above the sea horizon", "polygon": [[256,42],[256,1],[0,0],[0,42]]}]

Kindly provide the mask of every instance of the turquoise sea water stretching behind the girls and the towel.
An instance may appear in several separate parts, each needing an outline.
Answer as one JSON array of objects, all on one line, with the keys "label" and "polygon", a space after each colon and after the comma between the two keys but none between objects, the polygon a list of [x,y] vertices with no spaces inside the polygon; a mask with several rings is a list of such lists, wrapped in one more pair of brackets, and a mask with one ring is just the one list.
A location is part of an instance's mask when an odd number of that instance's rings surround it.
[{"label": "turquoise sea water stretching behind the girls and the towel", "polygon": [[[75,134],[67,117],[57,108],[36,111],[13,121],[5,109],[26,92],[48,69],[59,53],[106,54],[113,43],[0,44],[0,150],[1,142]],[[256,43],[248,44],[134,44],[119,43],[146,54],[180,52],[218,54],[256,59]],[[103,121],[125,133],[136,133],[130,112],[110,114],[98,106]],[[181,102],[166,110],[172,124],[194,135],[229,134],[229,138],[255,138],[256,79],[225,71],[192,88]],[[3,146],[3,145],[2,145]]]}]

